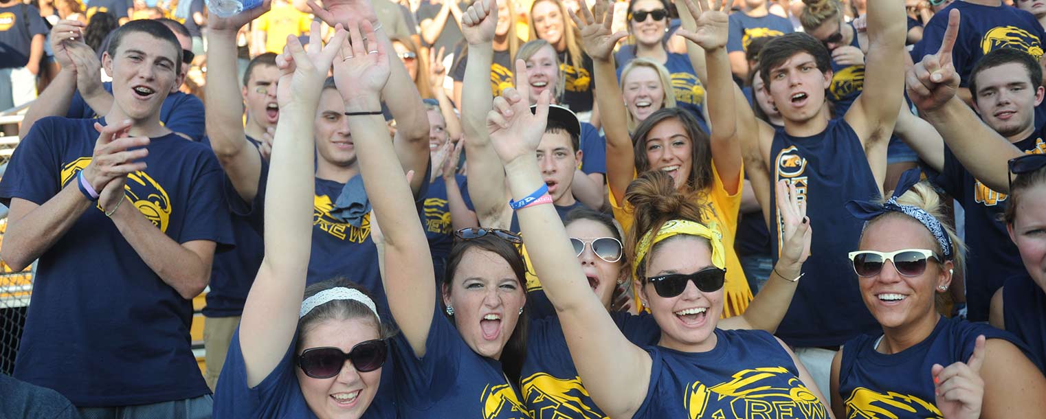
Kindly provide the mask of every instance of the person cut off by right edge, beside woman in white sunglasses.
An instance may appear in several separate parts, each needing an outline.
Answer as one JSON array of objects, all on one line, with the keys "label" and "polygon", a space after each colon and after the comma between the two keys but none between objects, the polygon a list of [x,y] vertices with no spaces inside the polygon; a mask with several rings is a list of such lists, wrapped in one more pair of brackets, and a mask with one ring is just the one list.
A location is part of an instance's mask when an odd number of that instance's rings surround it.
[{"label": "person cut off by right edge, beside woman in white sunglasses", "polygon": [[[992,298],[992,325],[1005,328],[1027,344],[1043,369],[1046,363],[1046,156],[1010,161],[1016,173],[1009,187],[1006,227],[1027,273],[1006,280]],[[1046,369],[1044,369],[1046,371]]]}]

